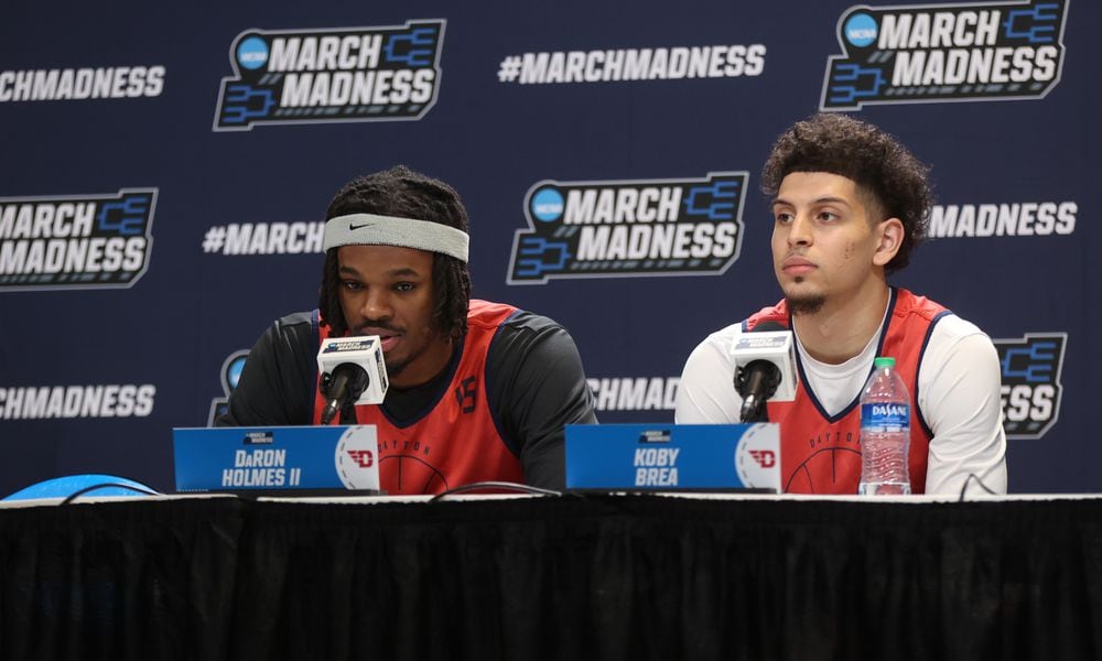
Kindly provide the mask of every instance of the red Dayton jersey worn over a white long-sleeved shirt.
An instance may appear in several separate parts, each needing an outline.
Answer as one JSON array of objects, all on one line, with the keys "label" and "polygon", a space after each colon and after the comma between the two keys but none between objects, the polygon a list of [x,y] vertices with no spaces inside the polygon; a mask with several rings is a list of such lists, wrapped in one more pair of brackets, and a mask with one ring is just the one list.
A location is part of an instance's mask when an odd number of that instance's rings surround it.
[{"label": "red Dayton jersey worn over a white long-sleeved shirt", "polygon": [[[876,355],[896,359],[896,371],[910,392],[910,487],[915,494],[925,494],[926,464],[933,434],[918,410],[918,365],[934,323],[948,311],[925,296],[901,289],[892,290],[890,307],[887,332],[880,334]],[[763,322],[790,327],[786,303],[781,301],[754,314],[744,323],[744,329],[753,330]],[[861,481],[861,393],[836,415],[828,415],[808,389],[799,356],[797,362],[800,386],[796,400],[766,404],[769,421],[780,423],[784,490],[787,494],[856,494]]]}]

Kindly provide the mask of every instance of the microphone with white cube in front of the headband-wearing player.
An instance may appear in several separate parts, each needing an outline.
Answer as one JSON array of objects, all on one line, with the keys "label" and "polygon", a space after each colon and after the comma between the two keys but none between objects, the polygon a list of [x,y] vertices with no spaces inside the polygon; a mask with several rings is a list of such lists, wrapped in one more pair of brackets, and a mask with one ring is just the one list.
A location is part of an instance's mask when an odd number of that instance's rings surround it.
[{"label": "microphone with white cube in front of the headband-wearing player", "polygon": [[387,395],[387,367],[378,335],[335,337],[317,350],[317,389],[325,397],[322,424],[346,404],[380,404]]}]

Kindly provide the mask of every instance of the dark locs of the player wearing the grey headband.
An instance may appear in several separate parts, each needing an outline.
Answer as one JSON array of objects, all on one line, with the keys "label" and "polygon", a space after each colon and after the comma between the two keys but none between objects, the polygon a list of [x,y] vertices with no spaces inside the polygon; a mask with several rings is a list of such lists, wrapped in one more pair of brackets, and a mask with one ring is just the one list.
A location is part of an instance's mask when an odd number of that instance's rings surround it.
[{"label": "dark locs of the player wearing the grey headband", "polygon": [[[460,194],[439,180],[414,172],[404,165],[360,176],[345,184],[333,197],[325,219],[348,214],[378,214],[399,218],[431,220],[467,231],[467,212]],[[331,248],[322,266],[322,285],[317,308],[331,334],[347,333],[341,308],[341,277],[337,250]],[[432,254],[432,285],[435,293],[432,328],[452,339],[467,332],[467,306],[471,302],[471,273],[467,264],[447,254]]]}]

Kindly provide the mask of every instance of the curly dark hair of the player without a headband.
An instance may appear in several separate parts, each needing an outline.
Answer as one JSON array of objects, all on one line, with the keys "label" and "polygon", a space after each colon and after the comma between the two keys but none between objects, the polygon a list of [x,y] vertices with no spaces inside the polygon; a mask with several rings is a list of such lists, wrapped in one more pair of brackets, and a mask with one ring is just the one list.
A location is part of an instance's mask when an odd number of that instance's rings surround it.
[{"label": "curly dark hair of the player without a headband", "polygon": [[929,167],[893,136],[845,115],[819,113],[795,123],[773,145],[761,171],[761,192],[776,197],[792,172],[828,172],[857,184],[880,219],[899,218],[904,239],[886,273],[910,262],[910,253],[926,238],[933,206]]}]

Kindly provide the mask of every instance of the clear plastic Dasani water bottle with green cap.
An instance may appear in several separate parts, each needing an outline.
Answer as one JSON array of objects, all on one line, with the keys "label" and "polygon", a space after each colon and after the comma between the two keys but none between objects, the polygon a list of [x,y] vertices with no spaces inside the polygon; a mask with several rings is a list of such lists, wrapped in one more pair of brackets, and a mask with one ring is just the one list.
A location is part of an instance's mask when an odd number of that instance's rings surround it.
[{"label": "clear plastic Dasani water bottle with green cap", "polygon": [[861,484],[863,496],[910,494],[910,394],[895,358],[879,357],[861,392]]}]

